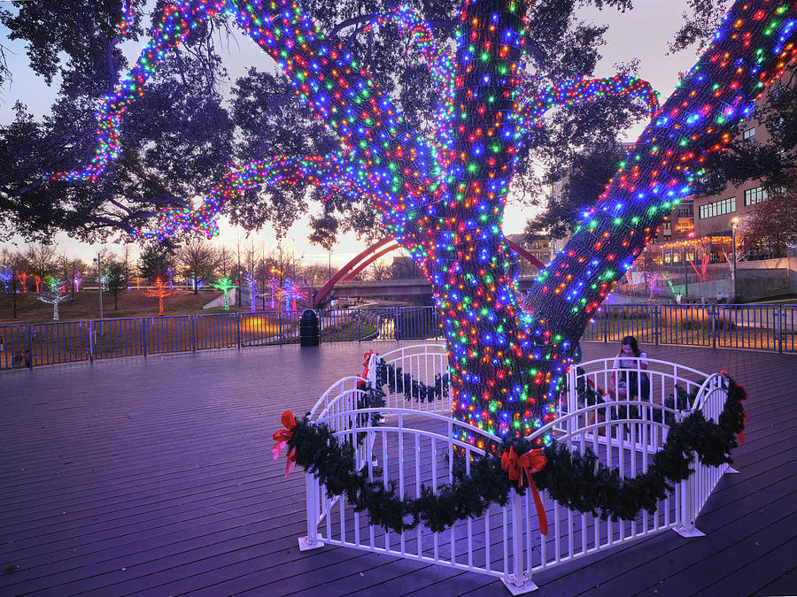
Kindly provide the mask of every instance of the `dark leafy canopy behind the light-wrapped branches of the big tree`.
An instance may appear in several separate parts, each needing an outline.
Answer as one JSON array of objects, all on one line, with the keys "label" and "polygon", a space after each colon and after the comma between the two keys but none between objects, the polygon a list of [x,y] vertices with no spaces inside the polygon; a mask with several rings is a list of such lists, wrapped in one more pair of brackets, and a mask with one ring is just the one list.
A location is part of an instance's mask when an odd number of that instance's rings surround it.
[{"label": "dark leafy canopy behind the light-wrapped branches of the big tree", "polygon": [[[192,34],[171,51],[143,101],[132,104],[121,126],[122,153],[112,172],[93,185],[43,183],[49,172],[81,165],[90,155],[97,99],[108,93],[127,67],[115,28],[119,0],[81,4],[14,2],[2,11],[10,38],[27,43],[35,73],[60,80],[52,113],[37,121],[19,103],[16,118],[0,127],[0,238],[12,232],[27,239],[50,239],[58,230],[85,241],[104,241],[120,231],[143,226],[166,207],[190,204],[221,178],[230,163],[275,154],[322,155],[339,149],[337,139],[309,109],[298,103],[271,60],[252,66],[230,86],[221,64],[231,23],[223,16]],[[449,38],[456,25],[455,3],[413,3]],[[534,85],[591,76],[600,57],[606,27],[577,18],[576,0],[541,0],[528,10],[527,70],[538,73]],[[594,0],[600,8],[631,8],[630,0]],[[415,130],[429,134],[434,124],[433,86],[426,65],[414,60],[396,27],[376,27],[375,15],[391,9],[387,0],[363,5],[353,0],[305,3],[322,30],[334,33],[367,65],[372,78],[390,94]],[[149,9],[143,15],[144,8]],[[137,8],[134,38],[142,23],[154,20],[162,3]],[[242,40],[242,43],[250,43]],[[633,70],[633,65],[629,65]],[[56,77],[58,75],[58,78]],[[228,93],[229,90],[229,93]],[[554,111],[533,131],[518,159],[519,195],[538,193],[546,179],[533,165],[561,170],[592,147],[611,142],[644,114],[628,98],[604,97],[578,109]],[[65,150],[66,149],[66,150]],[[232,223],[248,230],[273,226],[278,234],[298,218],[311,215],[310,240],[329,248],[337,234],[355,231],[368,241],[381,238],[374,211],[349,195],[319,188],[280,185],[247,191],[229,203]]]}]

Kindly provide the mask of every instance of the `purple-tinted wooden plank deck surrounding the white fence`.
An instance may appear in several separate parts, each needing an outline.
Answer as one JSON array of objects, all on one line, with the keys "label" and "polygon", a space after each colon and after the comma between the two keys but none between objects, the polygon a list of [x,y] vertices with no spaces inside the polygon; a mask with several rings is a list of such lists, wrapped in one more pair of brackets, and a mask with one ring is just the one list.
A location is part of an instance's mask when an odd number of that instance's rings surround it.
[{"label": "purple-tinted wooden plank deck surrounding the white fence", "polygon": [[[411,342],[406,342],[409,344]],[[301,553],[304,474],[271,433],[362,353],[397,342],[264,347],[0,374],[0,595],[507,595],[499,582],[352,549]],[[584,343],[584,359],[615,345]],[[797,356],[650,355],[747,387],[747,444],[697,526],[535,576],[539,595],[797,593]]]}]

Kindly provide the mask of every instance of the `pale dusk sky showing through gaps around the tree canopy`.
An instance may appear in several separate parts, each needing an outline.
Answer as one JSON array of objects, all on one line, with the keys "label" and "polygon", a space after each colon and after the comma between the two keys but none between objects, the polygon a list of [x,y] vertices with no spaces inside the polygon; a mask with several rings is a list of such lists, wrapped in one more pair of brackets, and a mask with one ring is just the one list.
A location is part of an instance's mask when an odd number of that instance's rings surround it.
[{"label": "pale dusk sky showing through gaps around the tree canopy", "polygon": [[[678,73],[687,71],[696,61],[693,51],[680,52],[677,55],[667,56],[667,43],[672,39],[677,27],[682,22],[681,14],[685,11],[685,1],[675,0],[662,3],[658,0],[636,0],[635,9],[626,13],[614,10],[598,11],[592,7],[582,9],[581,14],[586,20],[596,23],[607,23],[610,28],[607,32],[607,45],[601,48],[603,59],[600,63],[597,76],[611,76],[614,74],[613,65],[618,62],[628,61],[631,58],[640,58],[639,76],[649,80],[655,89],[661,92],[661,101],[667,99],[669,94],[677,84]],[[34,73],[27,68],[27,57],[25,56],[24,46],[19,42],[9,42],[5,39],[7,31],[0,27],[0,35],[3,36],[3,43],[10,48],[14,54],[8,57],[8,62],[12,68],[13,80],[10,85],[2,89],[0,96],[0,122],[9,123],[12,116],[13,104],[19,99],[26,103],[28,110],[32,111],[35,117],[40,118],[50,109],[50,103],[54,96],[53,91],[48,88],[43,80],[38,79]],[[143,46],[143,40],[137,43],[128,42],[123,48],[130,58],[130,62],[135,61],[135,55]],[[226,62],[231,80],[252,64],[263,65],[270,62],[267,55],[245,38],[241,38],[237,46],[232,42],[229,46],[229,57]],[[54,84],[57,87],[58,82]],[[641,132],[643,126],[638,126],[626,135],[626,141],[634,141]],[[316,206],[315,210],[319,210]],[[506,233],[520,233],[526,220],[533,216],[533,211],[529,208],[522,208],[519,205],[510,203],[507,205],[504,230]],[[236,237],[244,237],[243,230],[229,226],[223,219],[220,221],[221,235],[214,242],[225,243],[228,247],[234,244]],[[255,241],[260,243],[265,241],[267,247],[275,245],[275,234],[271,230],[261,230],[251,233]],[[328,254],[324,249],[315,247],[306,241],[306,221],[299,221],[286,234],[288,245],[295,245],[297,255],[304,254],[307,262],[318,262],[326,264]],[[18,246],[24,244],[17,238]],[[248,244],[249,241],[246,241]],[[58,251],[66,251],[72,255],[80,256],[86,261],[90,261],[91,256],[97,252],[98,247],[90,247],[85,243],[74,241],[59,234],[57,237]],[[0,245],[2,246],[2,245]],[[10,243],[5,246],[11,247]],[[365,248],[363,241],[357,241],[353,236],[340,238],[337,246],[333,249],[332,263],[343,265],[353,256]],[[106,249],[118,249],[107,246]]]}]

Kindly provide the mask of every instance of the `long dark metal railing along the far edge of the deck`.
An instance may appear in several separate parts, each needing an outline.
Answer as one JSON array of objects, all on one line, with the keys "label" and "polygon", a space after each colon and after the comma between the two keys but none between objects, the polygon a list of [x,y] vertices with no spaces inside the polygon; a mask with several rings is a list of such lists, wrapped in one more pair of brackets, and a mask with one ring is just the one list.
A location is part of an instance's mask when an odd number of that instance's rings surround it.
[{"label": "long dark metal railing along the far edge of the deck", "polygon": [[[321,342],[441,338],[434,307],[319,311]],[[258,311],[0,325],[0,370],[120,356],[299,341],[300,311]],[[582,336],[643,344],[797,352],[797,305],[605,305]]]}]

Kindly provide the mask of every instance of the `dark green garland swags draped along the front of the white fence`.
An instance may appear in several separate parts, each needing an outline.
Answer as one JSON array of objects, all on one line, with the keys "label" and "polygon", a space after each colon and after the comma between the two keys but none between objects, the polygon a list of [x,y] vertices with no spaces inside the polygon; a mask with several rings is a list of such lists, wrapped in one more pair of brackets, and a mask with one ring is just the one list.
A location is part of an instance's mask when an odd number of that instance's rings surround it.
[{"label": "dark green garland swags draped along the front of the white fence", "polygon": [[[732,462],[731,449],[739,445],[737,436],[744,429],[741,401],[746,398],[745,389],[731,379],[718,423],[707,421],[701,412],[673,421],[664,446],[653,455],[648,470],[635,478],[621,478],[617,469],[599,463],[590,448],[580,454],[554,443],[544,448],[547,464],[534,475],[535,482],[561,505],[604,520],[633,520],[640,509],[653,513],[657,501],[693,472],[695,453],[712,466]],[[515,484],[501,469],[500,455],[510,447],[518,454],[532,448],[528,440],[504,440],[491,455],[471,463],[469,475],[455,467],[453,483],[440,486],[437,494],[422,486],[421,496],[414,499],[400,498],[395,482],[385,486],[368,480],[367,468],[356,470],[354,446],[338,440],[327,425],[304,417],[292,431],[288,446],[296,448],[296,462],[327,487],[329,497],[345,494],[356,512],[368,511],[371,524],[395,532],[418,524],[442,532],[458,520],[483,515],[492,503],[506,505]],[[375,476],[379,474],[376,470]],[[525,487],[518,491],[523,494]]]}]

